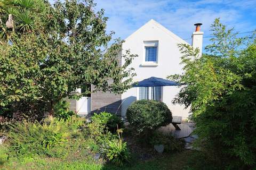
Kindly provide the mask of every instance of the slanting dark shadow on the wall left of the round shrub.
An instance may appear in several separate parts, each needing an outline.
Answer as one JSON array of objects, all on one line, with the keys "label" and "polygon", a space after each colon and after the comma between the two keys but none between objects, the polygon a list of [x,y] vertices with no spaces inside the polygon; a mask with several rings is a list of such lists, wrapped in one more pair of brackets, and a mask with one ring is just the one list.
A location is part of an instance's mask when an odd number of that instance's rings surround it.
[{"label": "slanting dark shadow on the wall left of the round shrub", "polygon": [[94,109],[91,111],[91,114],[93,113],[100,113],[100,112],[109,112],[117,115],[125,116],[124,113],[126,113],[126,109],[131,105],[133,101],[136,100],[136,97],[130,96],[123,100],[115,101],[114,103],[108,104],[106,106],[102,106],[98,109]]}]

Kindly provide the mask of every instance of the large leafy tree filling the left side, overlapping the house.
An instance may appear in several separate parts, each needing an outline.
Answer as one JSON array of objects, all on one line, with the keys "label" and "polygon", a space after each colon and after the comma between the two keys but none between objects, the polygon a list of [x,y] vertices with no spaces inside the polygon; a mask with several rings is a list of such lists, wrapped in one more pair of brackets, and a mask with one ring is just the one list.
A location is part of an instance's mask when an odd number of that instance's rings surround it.
[{"label": "large leafy tree filling the left side, overlapping the house", "polygon": [[127,66],[135,55],[120,55],[120,39],[108,47],[114,32],[107,34],[104,11],[94,12],[94,7],[89,0],[57,1],[47,11],[44,30],[14,32],[9,43],[1,45],[1,106],[17,106],[12,107],[15,112],[23,103],[25,110],[42,114],[47,105],[53,114],[61,99],[79,97],[73,93],[76,88],[94,84],[97,90],[115,93],[130,88],[134,73]]}]

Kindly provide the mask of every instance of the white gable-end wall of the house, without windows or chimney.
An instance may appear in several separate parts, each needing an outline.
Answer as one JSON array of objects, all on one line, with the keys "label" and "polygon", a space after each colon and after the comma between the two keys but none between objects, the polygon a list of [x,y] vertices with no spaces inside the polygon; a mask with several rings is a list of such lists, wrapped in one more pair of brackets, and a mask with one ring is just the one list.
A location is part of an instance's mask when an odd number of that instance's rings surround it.
[{"label": "white gable-end wall of the house, without windows or chimney", "polygon": [[[157,66],[141,65],[145,60],[144,41],[158,41]],[[186,43],[186,41],[174,35],[154,20],[150,20],[131,36],[126,38],[122,46],[122,54],[125,54],[126,49],[130,49],[131,54],[138,54],[139,56],[135,58],[130,65],[137,73],[133,81],[141,81],[150,77],[166,79],[168,75],[182,73],[182,66],[180,65],[181,54],[177,46],[180,43]],[[122,61],[122,63],[124,63],[124,61]],[[184,109],[183,106],[172,104],[172,99],[178,92],[179,89],[177,87],[163,87],[163,102],[170,108],[173,115],[186,118],[189,115],[189,109]],[[122,94],[122,116],[125,116],[127,107],[136,99],[136,88],[131,88]]]}]

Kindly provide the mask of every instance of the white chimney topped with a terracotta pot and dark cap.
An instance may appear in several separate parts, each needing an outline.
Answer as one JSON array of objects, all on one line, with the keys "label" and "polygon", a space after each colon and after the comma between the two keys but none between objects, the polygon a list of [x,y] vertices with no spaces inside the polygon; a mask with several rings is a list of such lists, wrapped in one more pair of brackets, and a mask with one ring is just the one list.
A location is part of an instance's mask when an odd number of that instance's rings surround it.
[{"label": "white chimney topped with a terracotta pot and dark cap", "polygon": [[199,48],[200,55],[202,55],[202,49],[203,49],[203,34],[204,32],[200,31],[200,26],[202,23],[196,23],[194,24],[196,26],[196,31],[192,34],[192,47],[193,48]]}]

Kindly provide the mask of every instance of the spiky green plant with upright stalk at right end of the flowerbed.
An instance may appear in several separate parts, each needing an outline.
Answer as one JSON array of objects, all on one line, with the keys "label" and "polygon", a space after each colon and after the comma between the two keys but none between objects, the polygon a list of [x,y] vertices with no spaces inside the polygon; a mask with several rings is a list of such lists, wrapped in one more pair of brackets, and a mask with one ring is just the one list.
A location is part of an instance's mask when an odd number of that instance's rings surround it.
[{"label": "spiky green plant with upright stalk at right end of the flowerbed", "polygon": [[117,130],[119,139],[108,141],[108,149],[105,150],[105,154],[110,162],[117,166],[122,166],[129,160],[129,151],[127,149],[126,142],[123,142],[121,137],[122,129]]}]

